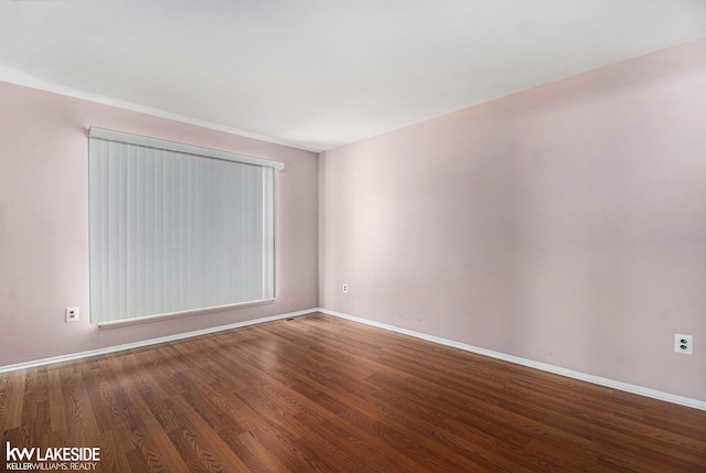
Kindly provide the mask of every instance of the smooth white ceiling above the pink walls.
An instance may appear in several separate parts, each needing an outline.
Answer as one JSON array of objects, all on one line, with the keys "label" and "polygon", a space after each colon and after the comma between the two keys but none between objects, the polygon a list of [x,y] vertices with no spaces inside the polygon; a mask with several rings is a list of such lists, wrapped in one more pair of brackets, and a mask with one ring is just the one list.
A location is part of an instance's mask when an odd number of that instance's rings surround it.
[{"label": "smooth white ceiling above the pink walls", "polygon": [[0,0],[0,79],[322,151],[702,37],[706,0]]}]

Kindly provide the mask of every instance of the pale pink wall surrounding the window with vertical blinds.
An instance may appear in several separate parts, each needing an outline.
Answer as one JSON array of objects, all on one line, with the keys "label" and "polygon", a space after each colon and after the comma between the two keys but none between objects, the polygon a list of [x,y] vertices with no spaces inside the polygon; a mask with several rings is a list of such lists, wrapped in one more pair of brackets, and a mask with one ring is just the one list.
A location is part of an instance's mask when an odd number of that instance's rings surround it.
[{"label": "pale pink wall surrounding the window with vertical blinds", "polygon": [[[318,305],[317,155],[0,83],[0,366]],[[285,162],[275,303],[99,330],[88,323],[86,129],[98,126]],[[82,320],[64,322],[79,305]]]}]

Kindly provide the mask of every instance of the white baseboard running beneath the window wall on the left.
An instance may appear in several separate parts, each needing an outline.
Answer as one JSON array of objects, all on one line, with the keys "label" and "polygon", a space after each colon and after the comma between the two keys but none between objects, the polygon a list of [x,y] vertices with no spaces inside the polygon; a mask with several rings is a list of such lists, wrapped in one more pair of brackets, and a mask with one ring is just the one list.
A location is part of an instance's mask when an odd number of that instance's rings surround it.
[{"label": "white baseboard running beneath the window wall on the left", "polygon": [[243,326],[256,325],[256,324],[260,324],[260,323],[265,323],[265,322],[272,322],[272,321],[276,321],[276,320],[289,319],[289,318],[299,316],[299,315],[306,315],[306,314],[310,314],[310,313],[318,312],[318,311],[319,311],[319,309],[307,309],[307,310],[303,310],[303,311],[289,312],[289,313],[286,313],[286,314],[272,315],[272,316],[263,318],[263,319],[255,319],[255,320],[249,320],[249,321],[245,321],[245,322],[237,322],[237,323],[232,323],[232,324],[228,324],[228,325],[218,325],[218,326],[197,330],[197,331],[193,331],[193,332],[184,332],[184,333],[179,333],[179,334],[175,334],[175,335],[161,336],[159,338],[142,340],[140,342],[133,342],[133,343],[127,343],[127,344],[122,344],[122,345],[108,346],[108,347],[105,347],[105,348],[90,350],[90,351],[87,351],[87,352],[79,352],[79,353],[72,353],[72,354],[68,354],[68,355],[53,356],[51,358],[35,359],[35,361],[32,361],[32,362],[18,363],[18,364],[14,364],[14,365],[6,365],[6,366],[0,366],[0,373],[17,372],[19,369],[34,368],[34,367],[38,367],[38,366],[54,365],[56,363],[64,363],[64,362],[73,362],[75,359],[88,358],[88,357],[98,356],[98,355],[107,355],[107,354],[110,354],[110,353],[124,352],[126,350],[142,348],[145,346],[158,345],[160,343],[175,342],[175,341],[179,341],[179,340],[191,338],[191,337],[194,337],[194,336],[207,335],[207,334],[216,333],[216,332],[224,332],[226,330],[239,329],[239,327],[243,327]]}]

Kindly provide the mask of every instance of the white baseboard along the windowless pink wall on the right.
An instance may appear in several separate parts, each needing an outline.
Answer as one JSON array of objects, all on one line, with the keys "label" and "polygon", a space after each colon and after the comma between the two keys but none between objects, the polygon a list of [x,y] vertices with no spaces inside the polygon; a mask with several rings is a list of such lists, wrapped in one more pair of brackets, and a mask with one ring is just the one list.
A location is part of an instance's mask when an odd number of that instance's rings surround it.
[{"label": "white baseboard along the windowless pink wall on the right", "polygon": [[618,389],[625,393],[637,394],[640,396],[645,396],[649,398],[659,399],[659,400],[676,404],[680,406],[686,406],[694,409],[706,410],[706,401],[703,401],[699,399],[692,399],[683,396],[673,395],[671,393],[664,393],[656,389],[651,389],[642,386],[631,385],[628,383],[617,381],[614,379],[593,376],[586,373],[576,372],[574,369],[567,369],[560,366],[549,365],[547,363],[535,362],[533,359],[522,358],[520,356],[507,355],[505,353],[494,352],[492,350],[481,348],[478,346],[468,345],[466,343],[454,342],[452,340],[441,338],[439,336],[428,335],[426,333],[415,332],[407,329],[400,329],[395,325],[388,325],[386,323],[375,322],[368,319],[362,319],[359,316],[349,315],[342,312],[336,312],[328,309],[319,308],[317,311],[328,315],[338,316],[340,319],[350,320],[352,322],[359,322],[359,323],[372,325],[378,329],[388,330],[391,332],[397,332],[404,335],[414,336],[416,338],[426,340],[428,342],[438,343],[440,345],[452,346],[454,348],[463,350],[466,352],[477,353],[479,355],[490,356],[491,358],[498,358],[504,362],[527,366],[530,368],[541,369],[543,372],[553,373],[555,375],[561,375],[568,378],[592,383],[595,385],[600,385],[600,386]]}]

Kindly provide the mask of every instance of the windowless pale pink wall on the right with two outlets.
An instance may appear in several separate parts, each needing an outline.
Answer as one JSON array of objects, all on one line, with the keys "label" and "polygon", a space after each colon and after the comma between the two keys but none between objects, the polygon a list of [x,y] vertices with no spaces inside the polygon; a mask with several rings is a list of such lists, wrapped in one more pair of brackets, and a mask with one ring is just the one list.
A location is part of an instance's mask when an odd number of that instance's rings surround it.
[{"label": "windowless pale pink wall on the right with two outlets", "polygon": [[691,43],[321,154],[321,307],[706,400],[705,57]]}]

